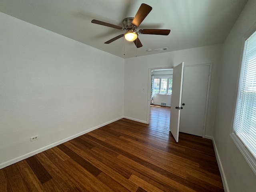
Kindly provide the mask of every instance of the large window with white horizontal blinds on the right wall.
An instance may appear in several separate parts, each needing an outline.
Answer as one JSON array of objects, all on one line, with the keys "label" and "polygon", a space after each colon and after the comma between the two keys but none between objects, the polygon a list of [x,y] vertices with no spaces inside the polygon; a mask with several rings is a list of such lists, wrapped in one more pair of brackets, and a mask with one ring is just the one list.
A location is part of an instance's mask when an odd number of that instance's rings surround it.
[{"label": "large window with white horizontal blinds on the right wall", "polygon": [[232,138],[256,173],[256,32],[245,41]]}]

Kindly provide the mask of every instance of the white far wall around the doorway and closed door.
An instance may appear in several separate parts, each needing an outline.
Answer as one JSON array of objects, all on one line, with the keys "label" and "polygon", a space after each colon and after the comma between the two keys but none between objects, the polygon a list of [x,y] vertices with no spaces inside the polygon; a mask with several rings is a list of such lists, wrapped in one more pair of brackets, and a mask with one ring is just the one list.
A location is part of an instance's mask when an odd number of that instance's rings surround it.
[{"label": "white far wall around the doorway and closed door", "polygon": [[[206,136],[212,136],[218,94],[218,78],[222,44],[187,50],[166,52],[149,56],[139,56],[124,60],[124,116],[146,122],[148,102],[149,68],[173,67],[181,62],[185,66],[212,63],[212,79]],[[145,92],[142,92],[145,88]]]}]

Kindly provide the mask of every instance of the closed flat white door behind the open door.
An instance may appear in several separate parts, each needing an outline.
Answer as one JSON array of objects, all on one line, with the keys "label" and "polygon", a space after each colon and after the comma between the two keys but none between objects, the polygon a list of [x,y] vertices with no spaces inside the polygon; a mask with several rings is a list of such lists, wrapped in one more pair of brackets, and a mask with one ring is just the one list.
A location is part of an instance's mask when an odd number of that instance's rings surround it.
[{"label": "closed flat white door behind the open door", "polygon": [[184,67],[180,132],[204,136],[209,75],[210,65]]}]

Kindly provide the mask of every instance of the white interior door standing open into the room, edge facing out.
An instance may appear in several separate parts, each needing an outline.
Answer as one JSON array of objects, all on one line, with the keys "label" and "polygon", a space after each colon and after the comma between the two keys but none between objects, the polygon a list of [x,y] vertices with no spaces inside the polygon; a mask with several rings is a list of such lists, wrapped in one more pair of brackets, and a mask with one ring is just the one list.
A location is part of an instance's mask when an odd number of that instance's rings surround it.
[{"label": "white interior door standing open into the room, edge facing out", "polygon": [[183,72],[184,62],[173,68],[170,131],[176,142],[179,141]]}]

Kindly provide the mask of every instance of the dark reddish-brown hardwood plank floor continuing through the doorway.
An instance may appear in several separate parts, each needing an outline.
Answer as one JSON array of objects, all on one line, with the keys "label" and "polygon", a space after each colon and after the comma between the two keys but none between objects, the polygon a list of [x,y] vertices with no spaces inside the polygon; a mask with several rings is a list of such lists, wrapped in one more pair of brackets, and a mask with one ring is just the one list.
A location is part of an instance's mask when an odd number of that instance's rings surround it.
[{"label": "dark reddish-brown hardwood plank floor continuing through the doorway", "polygon": [[150,124],[121,119],[0,170],[1,192],[224,191],[212,141],[169,132],[170,108]]}]

